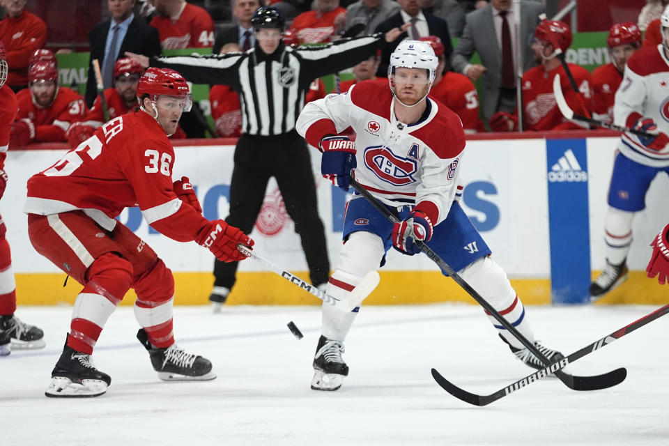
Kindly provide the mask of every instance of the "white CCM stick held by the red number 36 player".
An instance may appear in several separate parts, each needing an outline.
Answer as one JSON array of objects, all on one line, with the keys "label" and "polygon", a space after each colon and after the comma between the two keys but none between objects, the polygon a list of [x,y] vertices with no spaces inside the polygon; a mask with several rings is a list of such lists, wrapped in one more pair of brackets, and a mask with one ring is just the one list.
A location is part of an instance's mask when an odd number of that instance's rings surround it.
[{"label": "white CCM stick held by the red number 36 player", "polygon": [[278,275],[291,282],[291,284],[300,287],[301,289],[307,291],[307,293],[311,293],[318,299],[323,300],[323,302],[326,304],[337,307],[344,312],[351,312],[353,309],[355,309],[355,307],[360,307],[360,304],[364,298],[367,298],[367,296],[372,291],[374,291],[374,289],[376,289],[378,282],[380,282],[378,272],[370,271],[362,278],[362,281],[357,284],[353,291],[351,291],[351,296],[348,298],[348,300],[339,300],[337,298],[333,298],[331,295],[325,294],[323,291],[316,288],[316,286],[313,286],[312,284],[309,284],[309,282],[300,279],[300,277],[293,275],[291,272],[282,270],[279,268],[279,266],[275,265],[268,259],[265,259],[263,256],[260,256],[255,251],[248,249],[244,245],[238,245],[237,249],[239,249],[240,252],[245,256],[249,256],[252,259],[265,263],[266,266],[270,267],[272,272],[276,272]]}]

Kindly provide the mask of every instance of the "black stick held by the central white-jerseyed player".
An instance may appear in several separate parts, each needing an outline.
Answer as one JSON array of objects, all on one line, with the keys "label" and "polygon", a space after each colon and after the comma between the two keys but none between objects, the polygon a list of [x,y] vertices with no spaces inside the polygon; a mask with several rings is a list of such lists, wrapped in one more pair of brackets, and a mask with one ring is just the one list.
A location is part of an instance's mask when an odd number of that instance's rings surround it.
[{"label": "black stick held by the central white-jerseyed player", "polygon": [[[388,220],[390,220],[393,223],[399,223],[399,218],[395,216],[383,203],[380,203],[377,199],[375,199],[367,190],[364,189],[358,183],[356,180],[351,178],[351,186],[360,193],[369,203],[371,203],[376,210],[378,210],[384,217],[386,217]],[[427,246],[425,243],[423,243],[421,240],[414,240],[414,243],[417,245],[417,247],[420,248],[422,252],[426,254],[434,263],[441,268],[441,270],[445,271],[448,273],[450,277],[458,284],[461,286],[463,290],[465,290],[474,300],[476,300],[479,305],[484,307],[486,311],[491,314],[504,328],[506,328],[509,333],[511,333],[518,341],[521,341],[523,346],[528,348],[530,352],[532,352],[536,357],[541,360],[544,364],[551,364],[551,362],[548,360],[548,358],[539,351],[539,349],[535,346],[535,344],[532,344],[526,337],[521,334],[521,332],[518,332],[516,328],[511,325],[505,318],[502,316],[496,309],[493,308],[492,305],[488,303],[475,289],[473,289],[470,284],[465,282],[465,280],[460,277],[460,275],[453,270],[448,264],[443,261],[436,252],[434,252],[429,246]],[[562,383],[564,385],[567,385],[572,390],[599,390],[599,389],[606,389],[607,387],[612,387],[613,385],[617,385],[622,383],[622,380],[624,380],[626,376],[626,371],[625,369],[615,369],[613,371],[610,371],[606,374],[603,375],[598,375],[598,376],[574,376],[571,374],[567,374],[564,371],[555,371],[555,376],[557,378],[560,378]]]}]

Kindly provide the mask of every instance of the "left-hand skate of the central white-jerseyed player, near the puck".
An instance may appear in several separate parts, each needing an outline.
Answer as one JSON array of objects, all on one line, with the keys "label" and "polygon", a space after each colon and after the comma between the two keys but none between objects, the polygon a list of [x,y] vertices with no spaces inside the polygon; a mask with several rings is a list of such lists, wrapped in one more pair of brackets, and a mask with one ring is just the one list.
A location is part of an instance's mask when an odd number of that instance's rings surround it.
[{"label": "left-hand skate of the central white-jerseyed player, near the puck", "polygon": [[348,366],[341,357],[344,343],[321,335],[314,356],[313,390],[337,390],[348,376]]}]

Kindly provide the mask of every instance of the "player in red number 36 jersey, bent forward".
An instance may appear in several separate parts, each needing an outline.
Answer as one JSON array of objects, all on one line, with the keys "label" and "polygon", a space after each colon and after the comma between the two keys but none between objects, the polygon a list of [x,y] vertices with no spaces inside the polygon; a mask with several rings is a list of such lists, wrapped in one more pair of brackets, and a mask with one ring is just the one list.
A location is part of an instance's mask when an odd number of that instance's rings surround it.
[{"label": "player in red number 36 jersey, bent forward", "polygon": [[93,397],[111,382],[91,354],[102,328],[129,289],[137,293],[137,338],[164,380],[215,378],[211,363],[174,344],[174,277],[143,240],[114,217],[139,206],[164,236],[195,241],[221,261],[245,259],[253,240],[223,220],[210,222],[186,177],[172,182],[174,149],[167,135],[190,109],[178,72],[150,68],[137,86],[140,112],[102,125],[79,147],[28,180],[28,234],[36,251],[84,285],[70,333],[46,390],[48,397]]}]

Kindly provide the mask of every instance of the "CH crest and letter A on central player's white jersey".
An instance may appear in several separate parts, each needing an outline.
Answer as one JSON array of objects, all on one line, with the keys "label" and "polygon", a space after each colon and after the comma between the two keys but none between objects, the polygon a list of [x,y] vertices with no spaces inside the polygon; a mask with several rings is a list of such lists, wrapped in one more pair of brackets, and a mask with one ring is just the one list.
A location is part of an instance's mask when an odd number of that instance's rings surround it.
[{"label": "CH crest and letter A on central player's white jersey", "polygon": [[408,157],[399,157],[386,146],[368,147],[363,156],[364,165],[386,183],[403,186],[416,181],[413,174],[417,170],[417,144],[413,144]]}]

